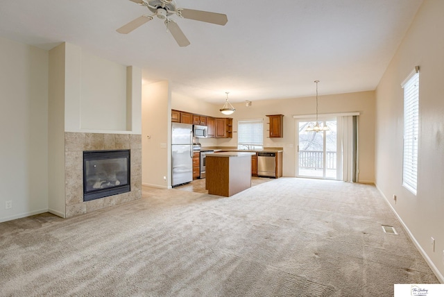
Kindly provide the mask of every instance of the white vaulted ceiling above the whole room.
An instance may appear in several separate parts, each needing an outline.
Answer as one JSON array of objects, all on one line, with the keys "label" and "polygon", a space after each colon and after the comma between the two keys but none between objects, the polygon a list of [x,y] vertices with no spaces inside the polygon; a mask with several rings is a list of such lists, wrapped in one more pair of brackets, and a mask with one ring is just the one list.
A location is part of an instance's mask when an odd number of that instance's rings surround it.
[{"label": "white vaulted ceiling above the whole room", "polygon": [[143,69],[145,83],[223,103],[375,90],[422,0],[176,0],[220,12],[218,26],[173,15],[191,44],[179,47],[163,21],[128,35],[144,14],[128,0],[0,1],[0,36],[51,49],[60,42]]}]

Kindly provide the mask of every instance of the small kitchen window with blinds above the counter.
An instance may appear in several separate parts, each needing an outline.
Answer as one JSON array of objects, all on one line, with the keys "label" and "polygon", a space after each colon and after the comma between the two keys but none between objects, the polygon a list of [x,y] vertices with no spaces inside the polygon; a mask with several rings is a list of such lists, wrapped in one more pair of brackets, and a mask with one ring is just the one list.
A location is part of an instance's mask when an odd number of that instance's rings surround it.
[{"label": "small kitchen window with blinds above the counter", "polygon": [[264,147],[264,121],[245,119],[237,121],[237,148],[261,149]]}]

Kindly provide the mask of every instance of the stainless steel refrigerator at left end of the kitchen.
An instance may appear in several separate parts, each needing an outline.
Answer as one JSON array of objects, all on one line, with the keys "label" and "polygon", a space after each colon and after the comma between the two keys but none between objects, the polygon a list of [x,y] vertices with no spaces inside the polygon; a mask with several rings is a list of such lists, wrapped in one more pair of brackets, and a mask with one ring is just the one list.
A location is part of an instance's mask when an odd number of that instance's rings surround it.
[{"label": "stainless steel refrigerator at left end of the kitchen", "polygon": [[193,126],[171,123],[171,185],[193,180]]}]

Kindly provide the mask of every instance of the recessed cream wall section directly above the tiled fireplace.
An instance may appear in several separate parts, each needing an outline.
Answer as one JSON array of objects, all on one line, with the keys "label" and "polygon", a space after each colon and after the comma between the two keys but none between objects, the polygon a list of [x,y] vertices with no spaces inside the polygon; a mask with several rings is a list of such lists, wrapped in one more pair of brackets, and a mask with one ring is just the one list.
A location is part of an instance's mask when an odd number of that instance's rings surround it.
[{"label": "recessed cream wall section directly above the tiled fireplace", "polygon": [[65,43],[65,131],[142,132],[142,70]]}]

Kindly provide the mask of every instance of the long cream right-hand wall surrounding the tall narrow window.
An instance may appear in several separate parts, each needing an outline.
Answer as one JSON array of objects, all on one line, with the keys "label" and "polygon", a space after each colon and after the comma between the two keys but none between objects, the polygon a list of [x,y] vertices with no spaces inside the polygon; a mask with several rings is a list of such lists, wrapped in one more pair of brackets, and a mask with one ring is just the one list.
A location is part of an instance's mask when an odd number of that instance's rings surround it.
[{"label": "long cream right-hand wall surrounding the tall narrow window", "polygon": [[[379,190],[444,282],[444,1],[425,0],[376,90],[375,175]],[[402,187],[403,92],[420,67],[418,194]],[[397,202],[393,201],[397,195]],[[432,250],[431,237],[436,248]]]}]

